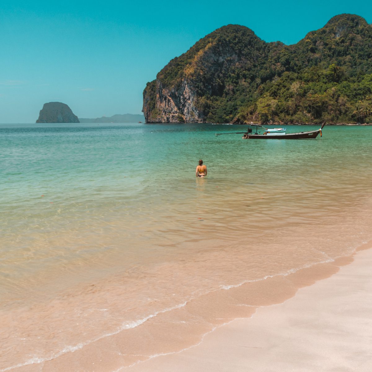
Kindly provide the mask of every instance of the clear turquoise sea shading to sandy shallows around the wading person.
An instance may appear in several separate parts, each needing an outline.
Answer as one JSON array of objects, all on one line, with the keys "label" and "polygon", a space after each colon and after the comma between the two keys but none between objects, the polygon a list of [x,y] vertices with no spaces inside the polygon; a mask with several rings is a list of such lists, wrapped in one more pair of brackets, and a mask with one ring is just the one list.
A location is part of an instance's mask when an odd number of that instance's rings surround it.
[{"label": "clear turquoise sea shading to sandy shallows around the wading person", "polygon": [[1,124],[0,372],[130,371],[372,240],[372,126],[245,130]]}]

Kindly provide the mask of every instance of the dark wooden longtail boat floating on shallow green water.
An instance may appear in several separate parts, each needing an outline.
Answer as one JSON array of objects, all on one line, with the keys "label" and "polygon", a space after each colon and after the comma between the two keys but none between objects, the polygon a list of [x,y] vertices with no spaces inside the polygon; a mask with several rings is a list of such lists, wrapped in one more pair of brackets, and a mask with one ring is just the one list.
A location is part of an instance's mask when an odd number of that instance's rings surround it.
[{"label": "dark wooden longtail boat floating on shallow green water", "polygon": [[[308,140],[311,138],[317,138],[318,134],[320,134],[320,137],[322,137],[322,129],[325,123],[323,123],[321,128],[317,129],[316,131],[297,133],[286,133],[287,128],[268,129],[261,124],[251,123],[249,125],[250,128],[248,128],[246,132],[216,133],[216,136],[219,136],[221,134],[243,134],[243,140]],[[253,133],[252,127],[256,128],[255,133]],[[261,132],[258,132],[258,127],[261,127],[265,130],[263,134],[261,134]]]}]

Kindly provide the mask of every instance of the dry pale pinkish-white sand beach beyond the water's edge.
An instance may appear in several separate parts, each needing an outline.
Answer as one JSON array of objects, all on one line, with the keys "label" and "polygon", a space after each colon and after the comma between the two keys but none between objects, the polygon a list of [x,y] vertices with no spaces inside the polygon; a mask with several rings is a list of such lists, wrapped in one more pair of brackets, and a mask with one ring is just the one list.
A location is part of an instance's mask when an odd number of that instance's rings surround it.
[{"label": "dry pale pinkish-white sand beach beyond the water's edge", "polygon": [[[371,248],[371,244],[362,248]],[[358,371],[372,368],[372,249],[330,278],[130,371]],[[124,369],[123,369],[124,370]]]}]

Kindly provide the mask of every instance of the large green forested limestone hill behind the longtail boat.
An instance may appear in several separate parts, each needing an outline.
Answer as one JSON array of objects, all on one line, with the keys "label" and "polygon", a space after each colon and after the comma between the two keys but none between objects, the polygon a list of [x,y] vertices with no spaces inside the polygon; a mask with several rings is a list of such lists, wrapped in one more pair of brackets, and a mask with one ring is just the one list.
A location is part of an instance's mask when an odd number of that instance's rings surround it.
[{"label": "large green forested limestone hill behind the longtail boat", "polygon": [[228,25],[144,90],[147,122],[372,122],[372,26],[333,17],[294,45]]}]

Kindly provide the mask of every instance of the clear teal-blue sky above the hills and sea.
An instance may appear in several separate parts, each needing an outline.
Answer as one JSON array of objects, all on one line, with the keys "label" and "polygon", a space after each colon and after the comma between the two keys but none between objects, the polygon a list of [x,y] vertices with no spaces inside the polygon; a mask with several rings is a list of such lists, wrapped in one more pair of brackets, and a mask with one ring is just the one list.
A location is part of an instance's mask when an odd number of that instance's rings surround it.
[{"label": "clear teal-blue sky above the hills and sea", "polygon": [[221,26],[295,44],[341,13],[372,23],[370,1],[1,0],[0,123],[51,101],[80,118],[141,113],[147,81]]}]

